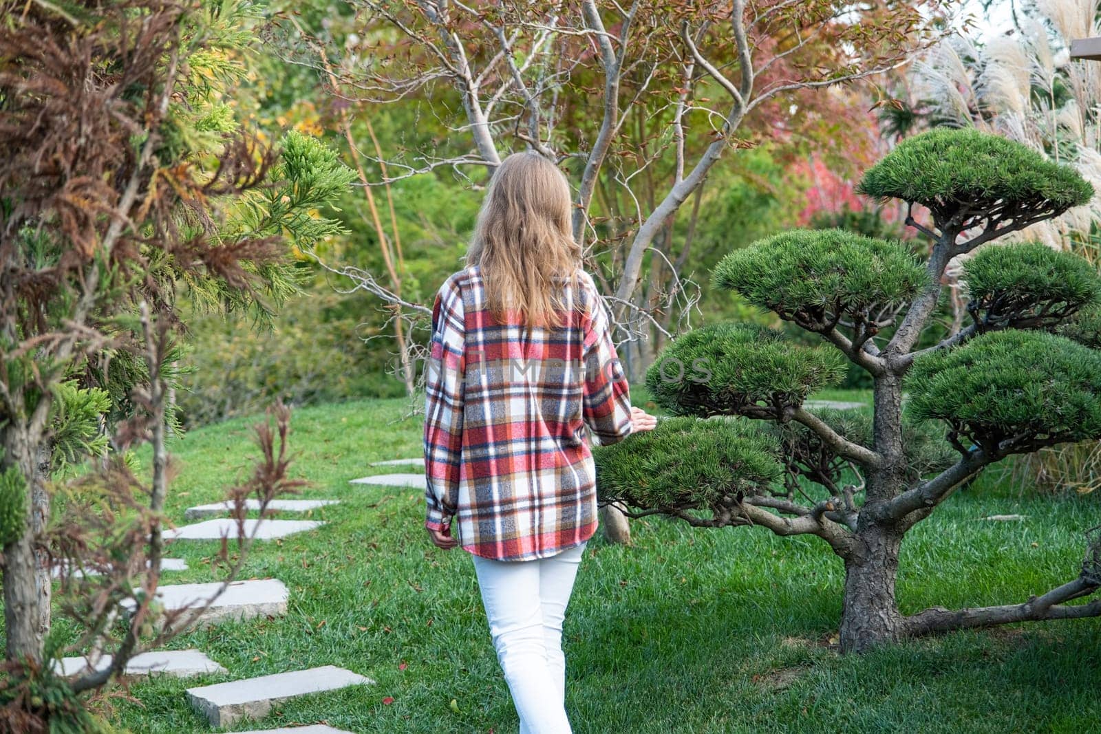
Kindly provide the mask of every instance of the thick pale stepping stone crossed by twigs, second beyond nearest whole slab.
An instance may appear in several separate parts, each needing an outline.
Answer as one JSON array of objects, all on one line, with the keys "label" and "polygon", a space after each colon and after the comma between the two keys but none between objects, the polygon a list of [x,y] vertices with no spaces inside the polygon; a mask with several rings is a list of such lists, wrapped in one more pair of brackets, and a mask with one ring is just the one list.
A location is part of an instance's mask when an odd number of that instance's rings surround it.
[{"label": "thick pale stepping stone crossed by twigs, second beyond nearest whole slab", "polygon": [[[196,624],[203,625],[225,620],[240,621],[286,614],[286,602],[291,593],[279,579],[235,581],[218,594],[221,585],[218,582],[174,583],[157,587],[156,595],[166,612],[200,607],[214,599],[210,606],[196,620]],[[128,599],[122,602],[122,606],[132,612],[137,602]]]}]

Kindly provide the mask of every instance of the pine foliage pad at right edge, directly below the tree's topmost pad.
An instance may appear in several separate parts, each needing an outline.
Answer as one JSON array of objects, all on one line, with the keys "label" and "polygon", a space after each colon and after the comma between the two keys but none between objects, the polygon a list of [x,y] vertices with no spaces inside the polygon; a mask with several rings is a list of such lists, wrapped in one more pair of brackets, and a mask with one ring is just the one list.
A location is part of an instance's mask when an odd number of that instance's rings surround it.
[{"label": "pine foliage pad at right edge, directly below the tree's topmost pad", "polygon": [[963,271],[968,309],[984,326],[1058,324],[1101,299],[1089,262],[1039,242],[983,248]]}]

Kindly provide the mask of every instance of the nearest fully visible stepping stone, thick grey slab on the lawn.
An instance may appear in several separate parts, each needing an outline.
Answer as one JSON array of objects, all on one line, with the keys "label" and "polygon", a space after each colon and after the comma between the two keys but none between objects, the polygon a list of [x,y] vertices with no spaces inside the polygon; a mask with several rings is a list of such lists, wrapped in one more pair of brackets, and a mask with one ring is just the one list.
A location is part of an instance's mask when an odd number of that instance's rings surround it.
[{"label": "nearest fully visible stepping stone, thick grey slab on the lawn", "polygon": [[187,700],[207,717],[211,726],[230,726],[243,716],[262,719],[268,715],[274,703],[362,683],[373,686],[374,681],[351,670],[328,665],[308,670],[235,680],[229,683],[188,688]]}]

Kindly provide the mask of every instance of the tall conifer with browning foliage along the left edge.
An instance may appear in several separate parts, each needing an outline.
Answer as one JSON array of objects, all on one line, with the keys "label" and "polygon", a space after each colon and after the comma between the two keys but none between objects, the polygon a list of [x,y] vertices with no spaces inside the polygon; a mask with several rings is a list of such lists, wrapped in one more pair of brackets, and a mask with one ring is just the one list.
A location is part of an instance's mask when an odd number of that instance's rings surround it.
[{"label": "tall conifer with browning foliage along the left edge", "polygon": [[[95,567],[78,628],[84,643],[113,645],[106,670],[65,690],[102,684],[140,651],[160,573],[181,298],[263,318],[297,288],[292,245],[340,231],[319,213],[351,180],[335,152],[295,132],[265,144],[226,101],[255,42],[248,12],[236,0],[0,0],[0,563],[6,668],[25,682],[0,691],[0,728],[59,725],[25,694],[58,653],[51,570],[64,590],[69,571]],[[268,476],[237,489],[270,500],[294,482],[274,432],[261,439]],[[127,450],[146,440],[141,480]],[[58,474],[88,457],[79,480]],[[65,512],[86,514],[58,516],[58,492]],[[98,525],[109,517],[117,525]],[[96,532],[113,545],[96,546]],[[128,596],[146,601],[116,638]],[[78,705],[70,713],[80,720]]]}]

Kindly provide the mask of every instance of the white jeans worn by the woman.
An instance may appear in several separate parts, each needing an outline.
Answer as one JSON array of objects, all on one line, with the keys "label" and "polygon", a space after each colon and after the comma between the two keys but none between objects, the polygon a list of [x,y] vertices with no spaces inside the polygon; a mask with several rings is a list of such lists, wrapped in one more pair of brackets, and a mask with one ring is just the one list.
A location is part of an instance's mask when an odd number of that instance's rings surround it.
[{"label": "white jeans worn by the woman", "polygon": [[570,734],[562,623],[587,545],[528,561],[471,556],[520,734]]}]

